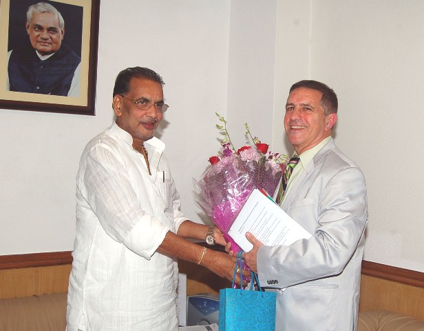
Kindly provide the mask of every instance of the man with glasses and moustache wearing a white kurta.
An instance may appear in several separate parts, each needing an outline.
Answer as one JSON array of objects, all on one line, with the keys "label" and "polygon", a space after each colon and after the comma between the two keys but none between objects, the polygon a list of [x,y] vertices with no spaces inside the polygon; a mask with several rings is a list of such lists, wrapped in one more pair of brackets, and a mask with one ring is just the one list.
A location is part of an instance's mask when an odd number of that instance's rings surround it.
[{"label": "man with glasses and moustache wearing a white kurta", "polygon": [[67,330],[177,330],[176,258],[227,279],[234,259],[182,239],[209,229],[180,212],[165,144],[153,137],[168,107],[160,76],[128,68],[117,85],[116,123],[87,144],[76,177]]}]

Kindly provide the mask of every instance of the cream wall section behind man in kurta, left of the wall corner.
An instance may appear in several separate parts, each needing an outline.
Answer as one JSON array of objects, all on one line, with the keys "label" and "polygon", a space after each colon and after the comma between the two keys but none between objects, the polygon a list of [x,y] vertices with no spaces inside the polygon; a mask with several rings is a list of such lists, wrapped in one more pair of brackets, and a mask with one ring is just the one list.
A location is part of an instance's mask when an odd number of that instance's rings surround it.
[{"label": "cream wall section behind man in kurta, left of the wall corner", "polygon": [[0,110],[0,254],[72,250],[79,157],[112,123],[114,79],[128,66],[147,66],[165,80],[170,108],[158,133],[184,212],[199,220],[191,178],[218,149],[215,111],[226,109],[229,6],[101,1],[96,116]]}]

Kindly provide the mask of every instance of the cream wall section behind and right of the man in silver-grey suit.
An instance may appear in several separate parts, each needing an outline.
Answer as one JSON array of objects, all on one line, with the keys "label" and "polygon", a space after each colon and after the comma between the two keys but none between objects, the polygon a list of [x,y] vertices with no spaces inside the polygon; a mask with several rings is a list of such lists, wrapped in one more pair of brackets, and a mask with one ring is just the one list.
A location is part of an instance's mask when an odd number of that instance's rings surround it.
[{"label": "cream wall section behind and right of the man in silver-grey suit", "polygon": [[335,141],[368,183],[364,258],[421,272],[423,16],[421,0],[279,1],[274,117],[277,129],[286,101],[280,91],[286,98],[299,79],[335,89]]}]

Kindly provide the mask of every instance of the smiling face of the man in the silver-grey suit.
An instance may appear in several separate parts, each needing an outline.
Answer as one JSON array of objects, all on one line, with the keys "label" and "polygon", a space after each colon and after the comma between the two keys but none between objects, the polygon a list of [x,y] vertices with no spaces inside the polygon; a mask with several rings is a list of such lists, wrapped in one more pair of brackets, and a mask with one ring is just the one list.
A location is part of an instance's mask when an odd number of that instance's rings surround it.
[{"label": "smiling face of the man in the silver-grey suit", "polygon": [[321,97],[310,88],[297,88],[288,95],[284,128],[298,155],[330,136],[337,121],[337,114],[324,114]]}]

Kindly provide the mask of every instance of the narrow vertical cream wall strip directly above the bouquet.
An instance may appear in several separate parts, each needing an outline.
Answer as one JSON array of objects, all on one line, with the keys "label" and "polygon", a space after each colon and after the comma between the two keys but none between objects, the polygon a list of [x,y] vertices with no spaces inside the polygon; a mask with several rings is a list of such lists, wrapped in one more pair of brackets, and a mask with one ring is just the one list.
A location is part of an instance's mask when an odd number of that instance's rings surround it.
[{"label": "narrow vertical cream wall strip directly above the bouquet", "polygon": [[237,148],[253,136],[271,144],[277,1],[231,1],[228,126]]}]

